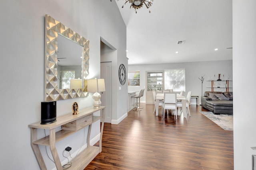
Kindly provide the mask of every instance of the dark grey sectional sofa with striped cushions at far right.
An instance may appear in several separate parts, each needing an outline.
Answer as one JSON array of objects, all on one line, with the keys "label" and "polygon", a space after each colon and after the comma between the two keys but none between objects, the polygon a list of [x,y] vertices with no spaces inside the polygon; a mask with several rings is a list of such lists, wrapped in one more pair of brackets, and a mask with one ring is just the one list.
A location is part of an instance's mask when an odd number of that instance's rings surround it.
[{"label": "dark grey sectional sofa with striped cushions at far right", "polygon": [[233,114],[233,92],[204,92],[201,104],[214,114]]}]

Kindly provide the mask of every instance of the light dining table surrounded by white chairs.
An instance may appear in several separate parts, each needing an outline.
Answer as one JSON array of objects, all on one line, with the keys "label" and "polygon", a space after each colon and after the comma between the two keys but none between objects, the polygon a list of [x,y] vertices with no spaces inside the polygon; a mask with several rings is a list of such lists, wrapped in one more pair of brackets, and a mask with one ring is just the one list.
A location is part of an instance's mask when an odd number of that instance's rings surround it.
[{"label": "light dining table surrounded by white chairs", "polygon": [[[180,94],[177,94],[176,99],[181,101],[183,117],[187,118],[188,113],[187,113],[187,110],[186,110],[186,97],[182,96]],[[159,101],[160,100],[164,100],[164,93],[157,93],[156,94],[156,116],[158,116],[158,107],[159,107]]]}]

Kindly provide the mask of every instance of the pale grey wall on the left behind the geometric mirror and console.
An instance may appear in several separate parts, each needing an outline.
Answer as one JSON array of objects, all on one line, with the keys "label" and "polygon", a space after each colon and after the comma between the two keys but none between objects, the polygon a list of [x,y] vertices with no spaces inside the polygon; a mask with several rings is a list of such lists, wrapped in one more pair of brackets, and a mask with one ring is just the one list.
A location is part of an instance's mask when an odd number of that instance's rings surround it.
[{"label": "pale grey wall on the left behind the geometric mirror and console", "polygon": [[[49,14],[90,40],[88,78],[100,78],[101,36],[115,45],[120,58],[118,63],[126,60],[124,54],[126,27],[115,2],[107,0],[1,1],[1,169],[40,169],[30,146],[28,125],[40,121],[40,104],[44,101],[45,14]],[[124,98],[126,100],[126,96]],[[83,108],[92,106],[92,101],[91,93],[86,98],[57,101],[57,116],[72,112],[73,102],[78,102],[79,107]],[[121,106],[126,107],[126,105]],[[117,115],[122,110],[117,109],[116,112],[116,119],[118,119]],[[99,125],[99,122],[93,125],[92,128],[95,130],[91,133],[91,139],[99,134]],[[66,159],[62,156],[66,145],[72,147],[72,154],[86,143],[84,137],[87,136],[87,129],[80,130],[57,143],[61,161]],[[38,136],[43,137],[44,131],[40,130]],[[53,162],[46,156],[45,147],[40,149],[47,168],[54,168]],[[48,154],[50,154],[49,148]]]}]

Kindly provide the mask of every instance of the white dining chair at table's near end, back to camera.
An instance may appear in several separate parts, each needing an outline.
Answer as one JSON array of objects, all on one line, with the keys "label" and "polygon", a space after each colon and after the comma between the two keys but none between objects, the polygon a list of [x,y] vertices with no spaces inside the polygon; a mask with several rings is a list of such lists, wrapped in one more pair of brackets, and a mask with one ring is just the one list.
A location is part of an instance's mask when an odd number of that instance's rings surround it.
[{"label": "white dining chair at table's near end, back to camera", "polygon": [[167,110],[167,115],[168,115],[168,110],[174,110],[174,115],[176,115],[177,118],[177,99],[176,99],[176,93],[164,93],[164,102],[163,102],[163,119],[164,119],[164,113],[165,110]]}]

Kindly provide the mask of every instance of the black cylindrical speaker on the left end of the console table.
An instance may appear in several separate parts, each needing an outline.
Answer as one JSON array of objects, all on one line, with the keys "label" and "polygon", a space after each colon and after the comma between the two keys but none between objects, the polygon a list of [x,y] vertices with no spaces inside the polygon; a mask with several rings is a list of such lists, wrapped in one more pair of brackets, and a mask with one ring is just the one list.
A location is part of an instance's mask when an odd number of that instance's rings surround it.
[{"label": "black cylindrical speaker on the left end of the console table", "polygon": [[41,102],[41,124],[56,122],[56,101]]}]

